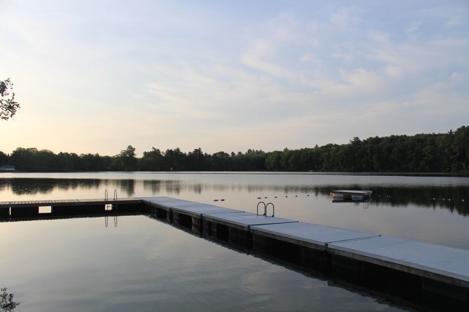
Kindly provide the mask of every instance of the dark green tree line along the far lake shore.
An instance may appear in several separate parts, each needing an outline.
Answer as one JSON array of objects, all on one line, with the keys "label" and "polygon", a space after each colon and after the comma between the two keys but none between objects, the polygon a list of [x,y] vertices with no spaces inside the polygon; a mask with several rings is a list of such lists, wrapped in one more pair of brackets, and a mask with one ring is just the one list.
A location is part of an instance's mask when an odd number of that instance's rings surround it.
[{"label": "dark green tree line along the far lake shore", "polygon": [[129,145],[115,156],[55,154],[49,150],[17,148],[0,151],[0,164],[26,172],[86,171],[323,171],[323,172],[468,172],[469,126],[445,134],[353,137],[347,144],[264,152],[207,154],[200,148],[182,152],[152,148],[137,157]]}]

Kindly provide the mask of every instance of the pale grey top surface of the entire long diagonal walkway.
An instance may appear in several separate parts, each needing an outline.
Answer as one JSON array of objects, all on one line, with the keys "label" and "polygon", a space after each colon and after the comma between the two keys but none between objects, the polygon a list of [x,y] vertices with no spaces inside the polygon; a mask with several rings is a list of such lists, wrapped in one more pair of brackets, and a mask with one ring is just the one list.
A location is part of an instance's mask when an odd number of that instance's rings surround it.
[{"label": "pale grey top surface of the entire long diagonal walkway", "polygon": [[[456,279],[457,284],[469,287],[469,250],[266,217],[165,196],[139,197],[138,199],[156,203],[174,211],[200,215],[208,221],[235,225],[246,231],[275,235],[278,236],[277,239],[294,239],[325,246],[332,254],[342,254],[401,271],[407,270],[405,268],[422,270],[425,276],[428,273],[447,276]],[[445,281],[438,275],[433,278]]]}]

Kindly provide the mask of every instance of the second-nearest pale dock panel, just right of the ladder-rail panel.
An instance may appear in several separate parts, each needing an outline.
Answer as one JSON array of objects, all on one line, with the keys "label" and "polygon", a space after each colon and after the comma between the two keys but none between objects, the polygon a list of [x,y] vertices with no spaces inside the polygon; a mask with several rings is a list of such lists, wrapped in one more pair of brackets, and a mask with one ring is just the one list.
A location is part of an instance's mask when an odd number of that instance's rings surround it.
[{"label": "second-nearest pale dock panel, just right of the ladder-rail panel", "polygon": [[253,232],[260,232],[260,234],[274,234],[275,236],[278,236],[277,239],[288,237],[294,240],[313,243],[321,246],[326,246],[326,244],[332,242],[379,236],[377,234],[344,230],[304,222],[257,225],[252,226],[251,230]]}]

